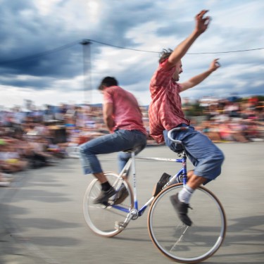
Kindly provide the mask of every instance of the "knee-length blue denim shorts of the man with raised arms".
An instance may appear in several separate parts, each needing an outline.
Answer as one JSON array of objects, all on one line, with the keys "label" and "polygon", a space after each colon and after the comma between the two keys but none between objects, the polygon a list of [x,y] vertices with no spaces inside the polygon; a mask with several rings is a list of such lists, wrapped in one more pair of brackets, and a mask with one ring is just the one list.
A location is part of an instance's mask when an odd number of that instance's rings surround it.
[{"label": "knee-length blue denim shorts of the man with raised arms", "polygon": [[[187,125],[182,124],[182,126]],[[181,146],[168,139],[167,130],[163,131],[163,135],[166,145],[172,151],[179,151]],[[190,127],[189,130],[173,132],[172,138],[182,141],[186,154],[195,167],[194,174],[207,179],[204,184],[220,175],[221,165],[225,159],[224,154],[206,135]]]}]

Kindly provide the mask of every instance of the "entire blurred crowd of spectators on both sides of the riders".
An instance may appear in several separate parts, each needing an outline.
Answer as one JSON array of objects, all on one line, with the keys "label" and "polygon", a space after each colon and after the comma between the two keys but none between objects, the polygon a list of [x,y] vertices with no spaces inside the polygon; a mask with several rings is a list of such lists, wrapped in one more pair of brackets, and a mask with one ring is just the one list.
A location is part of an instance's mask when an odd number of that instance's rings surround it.
[{"label": "entire blurred crowd of spectators on both sides of the riders", "polygon": [[[263,141],[263,102],[258,99],[183,100],[191,124],[213,142]],[[142,106],[146,129],[148,107]],[[68,105],[0,111],[0,186],[16,172],[54,165],[61,158],[78,158],[77,146],[107,134],[101,106]],[[156,142],[149,137],[148,144]]]}]

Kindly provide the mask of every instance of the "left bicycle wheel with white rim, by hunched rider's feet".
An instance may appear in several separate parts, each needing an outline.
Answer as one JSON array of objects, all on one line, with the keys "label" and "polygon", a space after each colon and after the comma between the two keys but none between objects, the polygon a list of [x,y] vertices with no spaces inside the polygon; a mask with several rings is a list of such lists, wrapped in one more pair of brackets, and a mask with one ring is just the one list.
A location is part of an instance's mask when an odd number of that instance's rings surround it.
[{"label": "left bicycle wheel with white rim, by hunched rider's feet", "polygon": [[84,219],[89,228],[103,237],[113,237],[120,233],[122,229],[115,227],[116,222],[124,222],[128,213],[134,206],[134,199],[130,184],[121,177],[112,172],[105,173],[108,182],[116,189],[125,188],[127,190],[127,198],[121,203],[115,204],[117,195],[108,199],[106,205],[94,204],[94,199],[101,192],[101,184],[95,179],[93,180],[84,194],[82,203]]}]

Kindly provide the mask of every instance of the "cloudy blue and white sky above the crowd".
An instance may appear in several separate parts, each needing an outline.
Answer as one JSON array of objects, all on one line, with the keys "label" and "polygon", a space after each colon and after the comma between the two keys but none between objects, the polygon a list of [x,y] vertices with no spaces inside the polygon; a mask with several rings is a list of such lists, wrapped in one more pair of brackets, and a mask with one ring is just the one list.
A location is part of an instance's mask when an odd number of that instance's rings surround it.
[{"label": "cloudy blue and white sky above the crowd", "polygon": [[[105,76],[149,104],[162,49],[208,9],[208,30],[184,56],[180,81],[213,58],[222,67],[182,97],[264,94],[263,0],[0,0],[0,106],[100,103]],[[90,39],[90,45],[80,44]],[[85,74],[84,74],[85,73]]]}]

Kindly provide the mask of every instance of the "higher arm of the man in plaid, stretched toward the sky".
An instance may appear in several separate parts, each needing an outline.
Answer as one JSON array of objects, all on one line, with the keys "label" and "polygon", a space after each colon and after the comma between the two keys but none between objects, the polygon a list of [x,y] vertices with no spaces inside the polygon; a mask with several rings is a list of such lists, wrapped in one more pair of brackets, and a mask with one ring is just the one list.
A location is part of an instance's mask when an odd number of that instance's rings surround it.
[{"label": "higher arm of the man in plaid, stretched toward the sky", "polygon": [[207,30],[210,17],[206,16],[203,17],[208,10],[203,10],[199,14],[196,15],[196,26],[194,28],[194,31],[187,37],[187,39],[184,39],[183,42],[181,42],[174,51],[172,51],[172,54],[170,54],[170,57],[168,58],[168,63],[166,63],[166,68],[172,68],[174,67],[177,62],[179,62],[182,57],[187,53],[190,46],[195,42],[195,40]]}]

